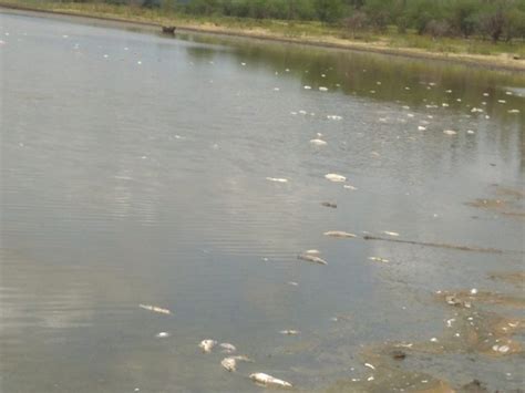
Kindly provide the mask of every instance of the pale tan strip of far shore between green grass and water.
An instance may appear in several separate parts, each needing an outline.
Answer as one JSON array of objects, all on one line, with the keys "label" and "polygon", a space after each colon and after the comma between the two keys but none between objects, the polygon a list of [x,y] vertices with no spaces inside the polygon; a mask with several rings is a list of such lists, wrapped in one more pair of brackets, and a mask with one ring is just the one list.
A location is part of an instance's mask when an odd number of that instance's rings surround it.
[{"label": "pale tan strip of far shore between green grass and water", "polygon": [[[49,3],[48,3],[49,6]],[[286,37],[277,32],[266,30],[264,28],[253,28],[253,29],[236,29],[230,27],[225,27],[215,23],[192,23],[187,21],[178,21],[176,19],[168,19],[166,21],[156,21],[148,20],[140,15],[116,15],[116,14],[101,14],[93,13],[84,10],[62,10],[59,8],[38,8],[38,7],[28,7],[25,4],[19,4],[17,2],[4,2],[0,0],[0,13],[2,12],[16,12],[16,13],[40,13],[40,14],[51,14],[59,17],[79,17],[79,18],[90,18],[96,20],[103,20],[109,22],[125,23],[126,25],[146,28],[148,30],[158,30],[161,31],[162,25],[173,24],[176,27],[177,31],[181,32],[196,32],[205,34],[219,34],[219,35],[231,35],[247,39],[258,39],[267,41],[277,41],[291,44],[302,44],[302,45],[312,45],[321,48],[333,48],[333,49],[343,49],[361,52],[373,52],[373,53],[384,53],[390,55],[398,55],[412,59],[426,59],[426,60],[437,60],[445,61],[451,63],[459,63],[465,65],[472,65],[477,68],[486,68],[498,71],[511,71],[511,72],[525,72],[525,59],[513,59],[511,54],[501,53],[501,54],[471,54],[471,53],[442,53],[442,52],[432,52],[422,49],[415,48],[391,48],[382,42],[361,42],[352,41],[348,39],[340,39],[331,35],[323,37]],[[166,23],[163,23],[166,22]]]}]

